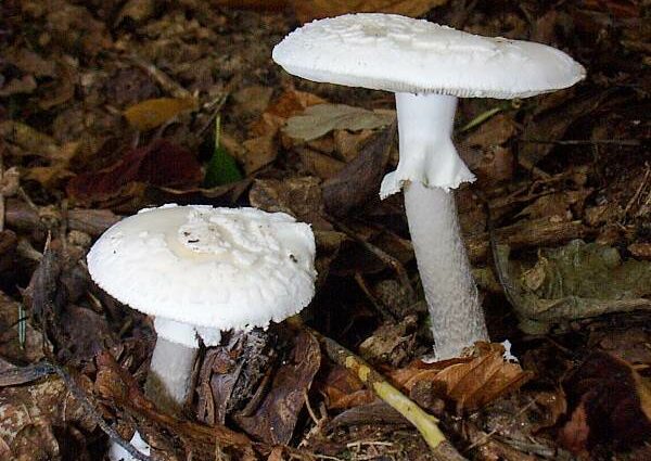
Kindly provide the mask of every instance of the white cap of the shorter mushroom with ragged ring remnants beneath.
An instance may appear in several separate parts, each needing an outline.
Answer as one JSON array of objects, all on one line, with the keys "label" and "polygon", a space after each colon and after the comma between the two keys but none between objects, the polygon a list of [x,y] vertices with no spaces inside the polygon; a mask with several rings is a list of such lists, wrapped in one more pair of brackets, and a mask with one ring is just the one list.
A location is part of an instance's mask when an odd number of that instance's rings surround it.
[{"label": "white cap of the shorter mushroom with ragged ring remnants beneath", "polygon": [[155,316],[158,334],[192,345],[195,333],[214,343],[213,329],[265,328],[301,311],[315,294],[315,253],[309,225],[284,213],[166,205],[110,228],[88,270],[116,299]]}]

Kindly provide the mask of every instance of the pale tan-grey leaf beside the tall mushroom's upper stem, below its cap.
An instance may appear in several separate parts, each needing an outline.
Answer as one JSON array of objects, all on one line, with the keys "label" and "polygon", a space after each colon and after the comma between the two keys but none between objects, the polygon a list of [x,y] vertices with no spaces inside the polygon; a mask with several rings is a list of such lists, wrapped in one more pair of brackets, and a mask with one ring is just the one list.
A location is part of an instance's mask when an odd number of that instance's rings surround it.
[{"label": "pale tan-grey leaf beside the tall mushroom's upper stem, below its cap", "polygon": [[345,104],[318,104],[290,117],[283,132],[290,138],[310,141],[335,129],[373,129],[387,126],[394,120],[393,112],[368,111]]}]

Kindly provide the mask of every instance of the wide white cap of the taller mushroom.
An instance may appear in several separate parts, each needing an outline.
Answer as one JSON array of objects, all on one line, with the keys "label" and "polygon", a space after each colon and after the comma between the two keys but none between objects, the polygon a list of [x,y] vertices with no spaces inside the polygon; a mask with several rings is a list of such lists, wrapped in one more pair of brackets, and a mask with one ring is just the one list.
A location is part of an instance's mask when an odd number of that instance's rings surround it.
[{"label": "wide white cap of the taller mushroom", "polygon": [[526,98],[585,77],[580,64],[546,44],[381,13],[306,24],[273,48],[273,61],[314,81],[459,98]]}]

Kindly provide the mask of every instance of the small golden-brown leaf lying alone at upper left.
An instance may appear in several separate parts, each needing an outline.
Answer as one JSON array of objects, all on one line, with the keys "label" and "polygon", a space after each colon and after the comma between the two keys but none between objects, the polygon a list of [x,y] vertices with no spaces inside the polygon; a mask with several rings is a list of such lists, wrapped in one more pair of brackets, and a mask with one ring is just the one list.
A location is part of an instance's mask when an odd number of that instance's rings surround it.
[{"label": "small golden-brown leaf lying alone at upper left", "polygon": [[146,131],[195,107],[193,98],[156,98],[133,104],[125,110],[124,116],[133,128]]}]

